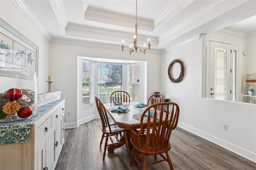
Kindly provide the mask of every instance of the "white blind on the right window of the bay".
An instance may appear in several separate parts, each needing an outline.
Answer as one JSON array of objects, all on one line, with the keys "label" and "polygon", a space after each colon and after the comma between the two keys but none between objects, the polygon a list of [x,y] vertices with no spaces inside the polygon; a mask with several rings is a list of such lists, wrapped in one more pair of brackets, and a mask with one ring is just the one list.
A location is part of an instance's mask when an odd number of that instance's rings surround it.
[{"label": "white blind on the right window of the bay", "polygon": [[129,93],[131,101],[139,101],[140,97],[140,64],[129,64]]}]

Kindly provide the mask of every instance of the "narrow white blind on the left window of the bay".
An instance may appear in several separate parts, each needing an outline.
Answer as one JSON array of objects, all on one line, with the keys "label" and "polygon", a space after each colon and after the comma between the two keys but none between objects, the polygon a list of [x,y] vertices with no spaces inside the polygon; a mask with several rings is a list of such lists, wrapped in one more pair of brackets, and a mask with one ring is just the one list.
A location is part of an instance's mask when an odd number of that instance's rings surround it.
[{"label": "narrow white blind on the left window of the bay", "polygon": [[82,59],[82,107],[92,106],[92,61]]}]

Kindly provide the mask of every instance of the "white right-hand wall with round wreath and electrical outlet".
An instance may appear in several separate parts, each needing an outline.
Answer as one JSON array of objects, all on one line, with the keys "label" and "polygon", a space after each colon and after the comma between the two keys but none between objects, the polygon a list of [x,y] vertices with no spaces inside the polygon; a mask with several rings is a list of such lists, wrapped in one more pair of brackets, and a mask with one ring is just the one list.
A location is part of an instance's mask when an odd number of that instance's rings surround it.
[{"label": "white right-hand wall with round wreath and electrical outlet", "polygon": [[[256,162],[256,105],[201,97],[204,45],[200,39],[162,55],[162,89],[180,106],[178,126]],[[180,83],[172,83],[167,69],[177,58],[184,61],[185,74]],[[227,131],[222,130],[223,123]]]}]

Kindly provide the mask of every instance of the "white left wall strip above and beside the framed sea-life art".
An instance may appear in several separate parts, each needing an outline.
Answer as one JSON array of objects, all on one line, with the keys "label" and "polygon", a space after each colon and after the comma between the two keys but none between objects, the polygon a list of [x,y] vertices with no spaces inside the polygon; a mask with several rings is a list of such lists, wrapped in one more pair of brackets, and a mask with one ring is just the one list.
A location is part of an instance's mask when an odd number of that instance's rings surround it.
[{"label": "white left wall strip above and beside the framed sea-life art", "polygon": [[0,17],[20,34],[36,44],[38,49],[38,93],[48,91],[46,82],[50,70],[48,66],[49,42],[34,27],[34,25],[16,8],[10,0],[0,1]]}]

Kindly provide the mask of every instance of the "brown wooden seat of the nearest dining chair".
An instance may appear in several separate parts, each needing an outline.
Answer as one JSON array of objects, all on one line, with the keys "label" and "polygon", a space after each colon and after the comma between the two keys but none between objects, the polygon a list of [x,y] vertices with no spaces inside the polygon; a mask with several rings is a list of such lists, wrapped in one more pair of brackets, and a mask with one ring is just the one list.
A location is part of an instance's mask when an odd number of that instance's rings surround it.
[{"label": "brown wooden seat of the nearest dining chair", "polygon": [[[140,140],[140,146],[136,146],[134,144],[134,142],[132,142],[132,139],[131,139],[132,145],[140,153],[145,154],[145,155],[155,155],[155,154],[160,154],[160,153],[163,153],[163,152],[167,152],[168,150],[171,149],[171,144],[169,142],[166,143],[166,146],[164,146],[164,144],[160,143],[160,142],[158,144],[154,144],[154,146],[152,146],[152,144],[150,142],[150,144],[147,146],[146,136],[147,136],[147,134],[138,136],[138,138]],[[154,138],[159,138],[159,137],[156,137],[156,134],[155,134]],[[150,141],[151,141],[151,138],[150,138]]]}]

